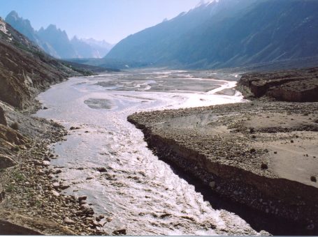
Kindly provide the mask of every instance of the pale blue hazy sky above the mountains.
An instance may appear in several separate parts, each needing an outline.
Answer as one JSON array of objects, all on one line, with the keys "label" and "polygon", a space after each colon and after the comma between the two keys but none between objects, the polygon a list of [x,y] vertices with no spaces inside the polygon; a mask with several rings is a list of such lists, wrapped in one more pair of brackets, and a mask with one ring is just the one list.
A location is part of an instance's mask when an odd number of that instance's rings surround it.
[{"label": "pale blue hazy sky above the mountains", "polygon": [[0,16],[11,10],[35,29],[56,24],[68,37],[117,43],[131,33],[194,8],[199,0],[0,0]]}]

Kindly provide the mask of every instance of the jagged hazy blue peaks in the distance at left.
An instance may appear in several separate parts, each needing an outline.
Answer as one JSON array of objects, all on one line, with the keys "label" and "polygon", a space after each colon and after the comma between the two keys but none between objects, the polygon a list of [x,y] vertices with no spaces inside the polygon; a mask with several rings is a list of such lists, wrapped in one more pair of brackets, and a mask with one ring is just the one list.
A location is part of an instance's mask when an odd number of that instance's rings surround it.
[{"label": "jagged hazy blue peaks in the distance at left", "polygon": [[73,37],[69,40],[66,31],[57,29],[53,24],[46,29],[41,28],[36,31],[29,20],[19,17],[15,11],[8,14],[6,22],[57,59],[101,58],[113,47],[104,40],[98,41],[92,38]]}]

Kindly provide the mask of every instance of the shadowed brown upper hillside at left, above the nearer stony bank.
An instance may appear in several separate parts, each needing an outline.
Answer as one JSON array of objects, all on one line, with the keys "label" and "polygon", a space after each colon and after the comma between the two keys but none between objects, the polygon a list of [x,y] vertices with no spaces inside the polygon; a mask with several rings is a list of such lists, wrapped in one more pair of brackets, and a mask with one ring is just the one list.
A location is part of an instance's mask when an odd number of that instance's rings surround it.
[{"label": "shadowed brown upper hillside at left, above the nearer stony bank", "polygon": [[0,20],[0,100],[19,109],[50,84],[79,75]]}]

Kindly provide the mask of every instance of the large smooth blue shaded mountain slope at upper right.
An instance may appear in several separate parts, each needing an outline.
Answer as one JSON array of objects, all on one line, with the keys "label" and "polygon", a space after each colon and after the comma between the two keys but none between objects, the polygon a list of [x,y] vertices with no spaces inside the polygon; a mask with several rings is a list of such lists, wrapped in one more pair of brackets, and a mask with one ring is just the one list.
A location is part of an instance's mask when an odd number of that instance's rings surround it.
[{"label": "large smooth blue shaded mountain slope at upper right", "polygon": [[203,3],[117,43],[107,60],[230,68],[318,56],[317,0]]}]

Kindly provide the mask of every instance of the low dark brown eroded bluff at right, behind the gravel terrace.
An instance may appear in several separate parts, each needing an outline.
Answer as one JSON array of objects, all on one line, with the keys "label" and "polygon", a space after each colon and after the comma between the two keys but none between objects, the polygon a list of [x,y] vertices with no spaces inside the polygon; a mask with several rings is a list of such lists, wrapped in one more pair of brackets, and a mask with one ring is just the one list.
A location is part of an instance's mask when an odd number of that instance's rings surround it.
[{"label": "low dark brown eroded bluff at right, behind the gravel terrace", "polygon": [[243,75],[239,82],[259,98],[268,95],[290,102],[318,101],[318,68]]}]

